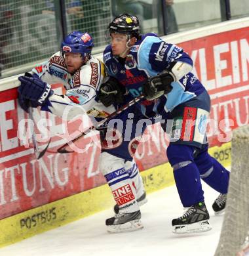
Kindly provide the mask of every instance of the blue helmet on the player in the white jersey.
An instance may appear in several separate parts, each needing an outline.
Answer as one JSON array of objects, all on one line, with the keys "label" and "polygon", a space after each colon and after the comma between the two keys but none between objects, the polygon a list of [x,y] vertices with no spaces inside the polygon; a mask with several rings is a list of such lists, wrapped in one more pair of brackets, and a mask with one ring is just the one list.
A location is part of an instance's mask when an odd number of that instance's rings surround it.
[{"label": "blue helmet on the player in the white jersey", "polygon": [[86,62],[94,46],[92,37],[87,32],[74,31],[69,33],[62,42],[62,56],[65,53],[81,53]]}]

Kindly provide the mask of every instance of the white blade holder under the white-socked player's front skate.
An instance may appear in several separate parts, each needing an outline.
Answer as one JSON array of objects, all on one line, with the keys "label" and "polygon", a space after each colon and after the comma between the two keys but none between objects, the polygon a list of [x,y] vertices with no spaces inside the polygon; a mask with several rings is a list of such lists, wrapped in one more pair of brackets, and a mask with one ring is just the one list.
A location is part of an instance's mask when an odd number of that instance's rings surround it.
[{"label": "white blade holder under the white-socked player's front skate", "polygon": [[108,225],[107,232],[109,233],[122,233],[122,232],[130,232],[136,231],[144,228],[140,219],[129,221],[124,224],[116,224],[116,225]]}]

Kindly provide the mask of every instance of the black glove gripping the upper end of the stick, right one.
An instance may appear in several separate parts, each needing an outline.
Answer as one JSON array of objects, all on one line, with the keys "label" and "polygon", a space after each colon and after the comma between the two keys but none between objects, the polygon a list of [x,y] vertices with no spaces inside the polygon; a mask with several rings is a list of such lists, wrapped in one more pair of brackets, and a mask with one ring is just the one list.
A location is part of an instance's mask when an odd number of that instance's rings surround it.
[{"label": "black glove gripping the upper end of the stick, right one", "polygon": [[171,83],[174,82],[174,77],[168,70],[164,70],[160,74],[151,76],[144,84],[143,93],[147,100],[154,100],[162,95],[166,95],[172,91]]}]

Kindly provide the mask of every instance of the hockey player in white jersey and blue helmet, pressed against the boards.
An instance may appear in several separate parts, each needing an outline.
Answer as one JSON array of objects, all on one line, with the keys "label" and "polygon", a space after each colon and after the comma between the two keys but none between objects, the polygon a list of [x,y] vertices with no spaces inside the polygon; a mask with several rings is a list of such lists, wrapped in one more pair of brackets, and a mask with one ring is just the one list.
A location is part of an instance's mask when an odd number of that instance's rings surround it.
[{"label": "hockey player in white jersey and blue helmet, pressed against the boards", "polygon": [[[72,32],[67,35],[62,42],[60,52],[52,55],[48,62],[35,67],[31,74],[26,73],[18,78],[21,82],[18,88],[20,106],[26,111],[29,106],[33,108],[41,106],[41,110],[60,117],[64,117],[64,110],[69,108],[69,114],[66,116],[68,120],[83,112],[89,114],[93,108],[99,113],[97,117],[114,112],[113,105],[105,107],[98,102],[98,93],[105,74],[102,62],[91,56],[92,47],[92,37],[88,33]],[[53,83],[62,83],[66,94],[56,95],[50,86]],[[120,100],[118,95],[115,100],[118,104]],[[94,111],[94,116],[96,117],[96,111]],[[105,130],[100,131],[102,145],[105,142]],[[124,155],[127,154],[128,148],[125,150]],[[109,232],[125,232],[143,227],[140,221],[139,204],[145,203],[147,199],[142,177],[132,158],[128,161],[122,157],[122,154],[121,152],[121,156],[116,156],[115,151],[109,154],[108,149],[105,148],[100,155],[100,171],[105,179],[111,175],[114,179],[109,182],[109,187],[117,202],[115,213],[121,215],[126,211],[132,211],[131,215],[126,215],[119,223],[112,223],[110,220],[113,218],[107,219],[106,225]],[[130,195],[130,200],[121,203],[117,194],[124,188]],[[122,205],[122,210],[119,209],[119,205]],[[128,207],[129,205],[132,206]]]}]

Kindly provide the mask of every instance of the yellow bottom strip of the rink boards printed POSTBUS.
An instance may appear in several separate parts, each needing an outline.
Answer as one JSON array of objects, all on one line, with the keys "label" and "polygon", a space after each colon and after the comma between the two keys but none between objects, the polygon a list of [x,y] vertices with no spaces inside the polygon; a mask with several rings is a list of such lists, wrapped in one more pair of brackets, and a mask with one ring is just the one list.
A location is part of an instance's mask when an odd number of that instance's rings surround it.
[{"label": "yellow bottom strip of the rink boards printed POSTBUS", "polygon": [[[209,152],[223,165],[231,165],[231,142],[225,143],[221,147],[210,148]],[[147,193],[174,184],[172,168],[169,163],[147,169],[141,174]],[[0,247],[92,215],[112,207],[114,204],[109,187],[105,184],[2,219],[0,221]],[[103,219],[102,228],[105,227],[104,223]],[[84,232],[84,227],[82,230]]]}]

